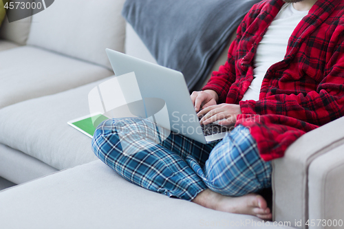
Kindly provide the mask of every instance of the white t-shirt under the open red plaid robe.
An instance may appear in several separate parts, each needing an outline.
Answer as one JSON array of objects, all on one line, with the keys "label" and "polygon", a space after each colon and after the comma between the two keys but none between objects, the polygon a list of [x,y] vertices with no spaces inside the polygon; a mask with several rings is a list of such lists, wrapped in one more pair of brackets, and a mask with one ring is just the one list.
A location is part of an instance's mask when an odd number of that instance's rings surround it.
[{"label": "white t-shirt under the open red plaid robe", "polygon": [[307,14],[308,11],[295,10],[292,3],[283,5],[257,47],[257,53],[253,60],[254,78],[242,100],[259,100],[261,83],[266,72],[271,65],[284,59],[292,32]]}]

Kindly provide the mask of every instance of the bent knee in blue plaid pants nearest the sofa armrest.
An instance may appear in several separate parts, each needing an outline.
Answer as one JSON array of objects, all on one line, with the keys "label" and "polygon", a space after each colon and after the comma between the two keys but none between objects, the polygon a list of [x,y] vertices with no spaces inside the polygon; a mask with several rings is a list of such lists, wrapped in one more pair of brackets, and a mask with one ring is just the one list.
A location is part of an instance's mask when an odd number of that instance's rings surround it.
[{"label": "bent knee in blue plaid pants nearest the sofa armrest", "polygon": [[231,133],[219,142],[204,169],[208,187],[222,195],[246,195],[270,186],[271,164],[261,159],[246,131]]}]

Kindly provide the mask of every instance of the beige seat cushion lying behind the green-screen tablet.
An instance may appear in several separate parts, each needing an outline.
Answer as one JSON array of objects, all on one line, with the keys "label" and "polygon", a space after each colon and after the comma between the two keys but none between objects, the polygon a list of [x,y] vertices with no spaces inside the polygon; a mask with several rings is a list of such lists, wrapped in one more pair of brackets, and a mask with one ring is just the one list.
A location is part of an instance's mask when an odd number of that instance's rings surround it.
[{"label": "beige seat cushion lying behind the green-screen tablet", "polygon": [[92,139],[67,122],[89,114],[89,91],[103,80],[0,109],[0,142],[58,170],[96,160]]}]

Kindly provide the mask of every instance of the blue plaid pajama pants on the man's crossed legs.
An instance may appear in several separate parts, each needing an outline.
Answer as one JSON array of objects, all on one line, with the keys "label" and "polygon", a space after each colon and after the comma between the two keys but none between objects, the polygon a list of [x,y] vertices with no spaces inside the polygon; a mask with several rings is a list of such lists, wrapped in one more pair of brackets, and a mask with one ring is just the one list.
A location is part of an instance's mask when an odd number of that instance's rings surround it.
[{"label": "blue plaid pajama pants on the man's crossed legs", "polygon": [[169,197],[192,200],[206,188],[241,196],[271,186],[271,163],[261,159],[246,127],[211,144],[173,132],[161,141],[164,134],[169,132],[147,119],[106,120],[92,149],[129,182]]}]

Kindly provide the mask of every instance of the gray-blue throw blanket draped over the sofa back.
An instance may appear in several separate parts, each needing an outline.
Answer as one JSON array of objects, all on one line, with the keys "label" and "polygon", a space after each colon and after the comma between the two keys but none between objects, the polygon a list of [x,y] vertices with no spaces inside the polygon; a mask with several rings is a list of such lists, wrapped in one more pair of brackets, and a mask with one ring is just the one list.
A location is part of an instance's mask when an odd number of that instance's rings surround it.
[{"label": "gray-blue throw blanket draped over the sofa back", "polygon": [[159,65],[184,74],[190,91],[210,73],[233,30],[260,0],[127,0],[122,15]]}]

